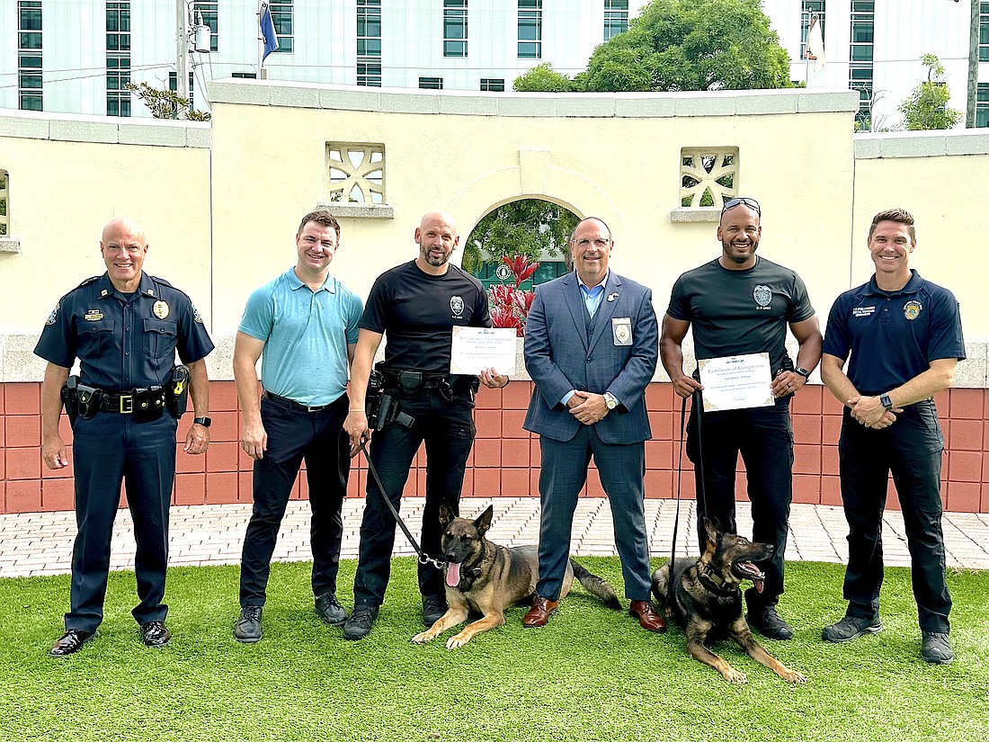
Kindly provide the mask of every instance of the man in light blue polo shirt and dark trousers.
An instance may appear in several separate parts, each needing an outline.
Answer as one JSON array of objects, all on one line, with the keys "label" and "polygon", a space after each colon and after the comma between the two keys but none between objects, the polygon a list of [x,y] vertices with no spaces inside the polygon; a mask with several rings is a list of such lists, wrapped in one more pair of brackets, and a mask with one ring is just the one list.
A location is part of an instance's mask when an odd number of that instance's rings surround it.
[{"label": "man in light blue polo shirt and dark trousers", "polygon": [[[237,641],[261,640],[271,555],[303,459],[313,509],[315,610],[333,626],[347,614],[336,600],[350,472],[347,379],[363,308],[329,272],[340,225],[331,214],[303,217],[299,259],[247,300],[233,349],[233,378],[243,426],[240,447],[254,459],[254,510],[240,561]],[[257,359],[262,391],[258,400]]]}]

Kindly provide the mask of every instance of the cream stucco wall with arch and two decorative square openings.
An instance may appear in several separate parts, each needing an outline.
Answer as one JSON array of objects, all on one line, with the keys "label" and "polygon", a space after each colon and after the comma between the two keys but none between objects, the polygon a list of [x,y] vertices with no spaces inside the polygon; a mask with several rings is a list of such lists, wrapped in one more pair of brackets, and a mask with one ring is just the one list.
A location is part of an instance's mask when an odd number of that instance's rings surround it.
[{"label": "cream stucco wall with arch and two decorative square openings", "polygon": [[424,212],[452,212],[466,237],[494,207],[540,197],[607,221],[612,267],[652,287],[662,315],[676,276],[720,252],[715,222],[672,218],[680,148],[735,146],[740,191],[763,204],[760,253],[803,276],[822,325],[834,298],[871,272],[872,214],[913,211],[915,265],[962,303],[977,362],[959,381],[986,386],[986,271],[967,248],[989,227],[985,135],[854,137],[848,91],[473,95],[229,81],[210,95],[212,126],[0,112],[20,249],[0,252],[0,380],[41,378],[31,348],[45,317],[102,271],[100,228],[124,214],[148,234],[147,269],[207,319],[213,377],[231,378],[247,295],[295,262],[299,219],[327,199],[326,142],[353,141],[385,144],[393,215],[340,218],[333,269],[362,295],[415,255]]}]

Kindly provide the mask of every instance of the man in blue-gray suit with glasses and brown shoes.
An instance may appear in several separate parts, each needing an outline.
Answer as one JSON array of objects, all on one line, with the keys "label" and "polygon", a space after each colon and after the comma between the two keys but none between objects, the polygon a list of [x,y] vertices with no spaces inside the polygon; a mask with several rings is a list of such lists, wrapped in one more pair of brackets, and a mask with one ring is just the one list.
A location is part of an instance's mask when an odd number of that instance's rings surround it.
[{"label": "man in blue-gray suit with glasses and brown shoes", "polygon": [[543,284],[525,325],[525,367],[536,388],[525,416],[539,433],[542,505],[539,582],[526,627],[557,609],[570,556],[577,498],[593,455],[611,504],[629,612],[650,631],[666,622],[649,601],[649,542],[643,512],[646,385],[658,359],[652,292],[608,270],[614,243],[599,219],[571,235],[576,272]]}]

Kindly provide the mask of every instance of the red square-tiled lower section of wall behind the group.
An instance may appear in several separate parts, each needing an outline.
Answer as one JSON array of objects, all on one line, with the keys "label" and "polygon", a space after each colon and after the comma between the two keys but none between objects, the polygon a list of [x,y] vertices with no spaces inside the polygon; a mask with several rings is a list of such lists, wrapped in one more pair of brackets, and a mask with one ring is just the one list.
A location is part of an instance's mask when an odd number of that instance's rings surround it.
[{"label": "red square-tiled lower section of wall behind the group", "polygon": [[[503,390],[483,389],[478,396],[478,438],[468,461],[465,497],[538,497],[539,439],[522,429],[532,385],[514,381]],[[679,398],[669,384],[652,384],[646,395],[654,439],[646,443],[646,492],[650,498],[674,496],[678,460]],[[210,450],[189,456],[176,444],[177,474],[173,503],[250,503],[251,460],[238,443],[240,421],[233,382],[217,381],[210,391]],[[938,396],[947,452],[942,490],[947,510],[989,512],[989,394],[982,389],[952,389]],[[821,386],[805,387],[793,404],[796,442],[794,502],[841,505],[838,434],[841,406]],[[72,509],[72,466],[52,472],[42,464],[41,385],[0,384],[0,513]],[[185,440],[192,416],[179,423]],[[71,451],[71,431],[62,416],[62,435]],[[71,458],[71,457],[70,457]],[[693,497],[693,476],[684,457],[682,495]],[[588,477],[585,497],[603,495],[596,472]],[[367,470],[361,457],[350,479],[349,496],[362,497]],[[425,486],[423,451],[409,473],[407,495]],[[745,499],[745,472],[739,466],[738,497]],[[294,498],[307,495],[300,477]],[[897,507],[890,486],[889,504]]]}]

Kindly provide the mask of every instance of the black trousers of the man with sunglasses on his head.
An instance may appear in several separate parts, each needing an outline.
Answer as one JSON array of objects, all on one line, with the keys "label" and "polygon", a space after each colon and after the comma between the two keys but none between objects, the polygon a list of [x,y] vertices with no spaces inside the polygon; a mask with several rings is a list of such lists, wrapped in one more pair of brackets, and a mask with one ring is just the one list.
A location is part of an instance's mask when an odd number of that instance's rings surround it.
[{"label": "black trousers of the man with sunglasses on his head", "polygon": [[[775,605],[783,594],[783,565],[793,500],[793,426],[790,399],[772,407],[702,413],[701,445],[697,446],[696,409],[690,413],[686,452],[694,465],[697,490],[697,540],[704,552],[704,516],[721,530],[738,533],[735,521],[735,470],[739,454],[745,462],[752,503],[752,540],[771,544],[772,559],[764,562],[764,591],[746,591],[751,609]],[[698,463],[699,457],[703,461]],[[703,482],[701,482],[703,471]],[[703,493],[703,495],[701,495]]]}]

